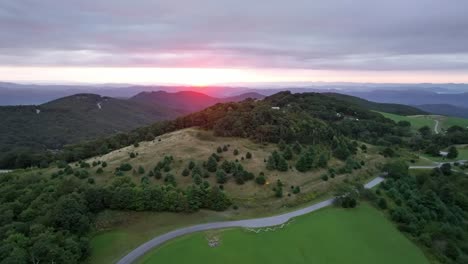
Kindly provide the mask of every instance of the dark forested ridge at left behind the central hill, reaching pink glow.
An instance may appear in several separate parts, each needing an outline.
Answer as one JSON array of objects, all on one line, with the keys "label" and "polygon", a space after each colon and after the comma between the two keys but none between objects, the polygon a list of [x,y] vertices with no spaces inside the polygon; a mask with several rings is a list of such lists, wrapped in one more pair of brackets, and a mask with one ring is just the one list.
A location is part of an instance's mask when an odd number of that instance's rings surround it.
[{"label": "dark forested ridge at left behind the central hill, reaching pink glow", "polygon": [[128,132],[218,102],[255,96],[260,95],[219,99],[196,92],[152,92],[140,93],[131,99],[117,99],[76,94],[42,105],[2,106],[0,168],[39,165],[40,156],[67,144]]}]

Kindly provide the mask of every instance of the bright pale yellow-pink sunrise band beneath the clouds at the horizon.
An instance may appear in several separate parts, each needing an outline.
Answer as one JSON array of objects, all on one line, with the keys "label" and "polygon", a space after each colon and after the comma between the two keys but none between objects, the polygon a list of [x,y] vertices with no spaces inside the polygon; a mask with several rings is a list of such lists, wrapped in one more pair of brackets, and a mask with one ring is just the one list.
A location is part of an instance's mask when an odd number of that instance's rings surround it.
[{"label": "bright pale yellow-pink sunrise band beneath the clouds at the horizon", "polygon": [[20,82],[134,83],[208,86],[236,83],[380,82],[461,83],[466,72],[331,71],[309,69],[224,69],[150,67],[0,67],[0,79]]}]

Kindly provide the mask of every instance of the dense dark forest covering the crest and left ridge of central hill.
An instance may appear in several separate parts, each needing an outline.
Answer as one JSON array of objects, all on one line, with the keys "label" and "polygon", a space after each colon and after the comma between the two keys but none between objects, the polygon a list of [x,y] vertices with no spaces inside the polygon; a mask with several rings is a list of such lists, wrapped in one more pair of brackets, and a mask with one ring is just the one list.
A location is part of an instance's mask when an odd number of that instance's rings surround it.
[{"label": "dense dark forest covering the crest and left ridge of central hill", "polygon": [[0,168],[47,167],[56,159],[76,161],[192,126],[212,129],[221,136],[239,136],[259,142],[299,140],[301,143],[330,144],[334,148],[339,147],[340,142],[346,142],[343,136],[374,144],[393,144],[396,136],[406,133],[393,121],[357,104],[337,99],[334,94],[281,92],[264,100],[217,104],[173,121],[157,122],[132,132],[67,146],[65,150],[35,153],[19,148],[2,155]]}]

